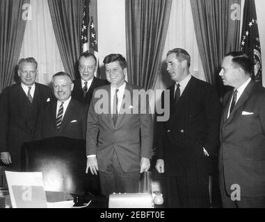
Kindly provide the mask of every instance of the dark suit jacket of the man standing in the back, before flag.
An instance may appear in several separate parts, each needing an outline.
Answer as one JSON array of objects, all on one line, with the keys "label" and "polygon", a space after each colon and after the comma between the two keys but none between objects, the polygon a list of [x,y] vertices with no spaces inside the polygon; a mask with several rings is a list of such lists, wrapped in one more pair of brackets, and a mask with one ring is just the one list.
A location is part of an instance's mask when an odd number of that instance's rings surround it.
[{"label": "dark suit jacket of the man standing in the back, before flag", "polygon": [[73,83],[74,83],[74,89],[72,91],[72,98],[77,99],[78,101],[82,103],[86,103],[88,105],[90,104],[93,91],[95,88],[102,86],[102,85],[109,85],[109,82],[107,80],[94,77],[88,89],[88,92],[86,93],[86,96],[83,96],[81,78],[74,80]]}]

